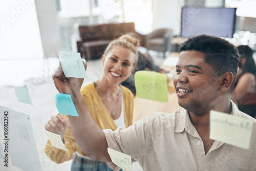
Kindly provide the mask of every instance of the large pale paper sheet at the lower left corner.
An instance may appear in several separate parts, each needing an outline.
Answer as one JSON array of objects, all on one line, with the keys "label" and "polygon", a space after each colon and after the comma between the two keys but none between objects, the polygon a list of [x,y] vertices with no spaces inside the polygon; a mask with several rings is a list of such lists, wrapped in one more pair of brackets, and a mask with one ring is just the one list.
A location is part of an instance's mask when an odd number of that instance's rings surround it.
[{"label": "large pale paper sheet at the lower left corner", "polygon": [[[7,163],[5,161],[2,162],[2,166],[4,167],[4,164],[7,164],[8,167],[5,168],[9,168],[8,170],[18,170],[14,169],[14,167],[20,170],[41,170],[30,115],[8,109],[4,106],[0,106],[0,114],[2,114],[0,116],[0,142],[5,145],[4,142],[8,141],[8,149],[10,149],[7,152],[2,145],[3,153],[0,156],[3,157],[3,155],[8,153],[8,161]],[[4,134],[4,131],[7,131],[6,129],[8,129],[8,134]],[[2,157],[0,161],[3,159]],[[0,166],[0,170],[6,169],[1,169]]]}]

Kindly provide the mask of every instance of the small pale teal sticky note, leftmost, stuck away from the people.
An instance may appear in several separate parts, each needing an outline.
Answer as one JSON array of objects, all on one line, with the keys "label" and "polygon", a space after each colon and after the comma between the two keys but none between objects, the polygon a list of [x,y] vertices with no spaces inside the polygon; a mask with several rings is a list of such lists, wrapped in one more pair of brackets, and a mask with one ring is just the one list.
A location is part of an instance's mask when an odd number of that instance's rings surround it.
[{"label": "small pale teal sticky note, leftmost, stuck away from the people", "polygon": [[14,90],[15,90],[17,100],[19,102],[33,105],[32,101],[30,99],[30,96],[29,96],[29,91],[28,91],[27,85],[24,85],[22,87],[14,87]]}]

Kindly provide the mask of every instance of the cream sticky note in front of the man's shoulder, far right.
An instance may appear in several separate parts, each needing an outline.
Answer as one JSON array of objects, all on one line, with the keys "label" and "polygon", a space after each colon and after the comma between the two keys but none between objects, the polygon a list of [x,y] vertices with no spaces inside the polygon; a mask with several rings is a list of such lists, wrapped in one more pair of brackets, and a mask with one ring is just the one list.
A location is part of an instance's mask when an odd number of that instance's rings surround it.
[{"label": "cream sticky note in front of the man's shoulder, far right", "polygon": [[210,111],[210,139],[250,148],[253,120]]}]

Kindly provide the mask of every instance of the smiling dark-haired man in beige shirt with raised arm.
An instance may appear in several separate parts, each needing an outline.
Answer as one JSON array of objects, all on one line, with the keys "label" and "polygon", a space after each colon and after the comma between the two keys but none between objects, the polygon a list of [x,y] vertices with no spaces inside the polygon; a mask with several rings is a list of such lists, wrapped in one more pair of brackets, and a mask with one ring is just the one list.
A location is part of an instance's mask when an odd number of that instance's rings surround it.
[{"label": "smiling dark-haired man in beige shirt with raised arm", "polygon": [[[144,170],[256,170],[256,120],[230,101],[239,59],[237,49],[224,39],[188,39],[180,47],[174,79],[182,108],[172,114],[156,112],[114,132],[99,129],[74,90],[71,96],[79,118],[68,117],[76,142],[90,158],[107,161],[115,170],[119,168],[107,147],[132,156]],[[209,139],[210,110],[253,120],[250,149]]]}]

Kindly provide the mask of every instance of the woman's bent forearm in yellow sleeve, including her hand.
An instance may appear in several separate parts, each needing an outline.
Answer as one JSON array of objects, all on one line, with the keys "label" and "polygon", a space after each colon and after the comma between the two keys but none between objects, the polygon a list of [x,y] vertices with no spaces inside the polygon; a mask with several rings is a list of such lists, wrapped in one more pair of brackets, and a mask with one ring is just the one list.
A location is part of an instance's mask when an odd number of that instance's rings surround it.
[{"label": "woman's bent forearm in yellow sleeve, including her hand", "polygon": [[45,125],[45,129],[54,134],[61,136],[61,140],[68,149],[64,151],[63,149],[52,146],[52,143],[48,140],[46,143],[46,148],[44,149],[46,155],[56,163],[63,163],[65,161],[74,158],[74,153],[79,149],[75,142],[73,134],[71,132],[71,127],[69,125],[68,117],[66,115],[57,114],[52,116],[51,120]]}]

